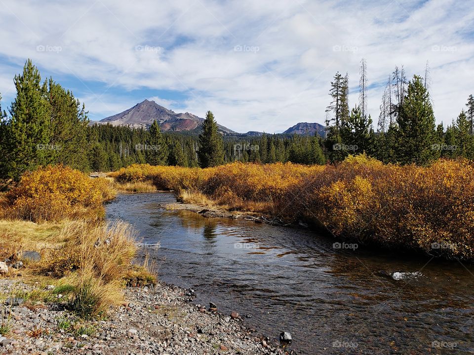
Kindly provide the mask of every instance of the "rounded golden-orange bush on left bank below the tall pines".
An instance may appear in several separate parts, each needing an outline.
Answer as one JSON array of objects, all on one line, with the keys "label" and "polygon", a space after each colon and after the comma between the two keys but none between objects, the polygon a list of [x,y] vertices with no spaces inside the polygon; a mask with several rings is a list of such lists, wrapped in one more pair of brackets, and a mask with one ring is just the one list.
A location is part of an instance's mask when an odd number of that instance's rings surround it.
[{"label": "rounded golden-orange bush on left bank below the tall pines", "polygon": [[111,183],[106,179],[91,179],[61,165],[47,166],[22,176],[4,196],[2,214],[35,222],[97,218],[104,214],[102,203],[113,197]]}]

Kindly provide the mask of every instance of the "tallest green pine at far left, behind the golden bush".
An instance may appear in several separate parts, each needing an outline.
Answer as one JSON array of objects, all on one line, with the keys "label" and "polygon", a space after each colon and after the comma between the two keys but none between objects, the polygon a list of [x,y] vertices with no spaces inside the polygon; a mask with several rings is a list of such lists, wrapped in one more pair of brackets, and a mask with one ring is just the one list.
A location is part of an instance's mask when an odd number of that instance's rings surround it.
[{"label": "tallest green pine at far left, behind the golden bush", "polygon": [[46,82],[41,83],[38,68],[31,60],[23,73],[15,75],[16,98],[10,107],[10,120],[5,129],[6,175],[19,178],[26,170],[34,170],[51,161],[49,146],[50,106]]}]

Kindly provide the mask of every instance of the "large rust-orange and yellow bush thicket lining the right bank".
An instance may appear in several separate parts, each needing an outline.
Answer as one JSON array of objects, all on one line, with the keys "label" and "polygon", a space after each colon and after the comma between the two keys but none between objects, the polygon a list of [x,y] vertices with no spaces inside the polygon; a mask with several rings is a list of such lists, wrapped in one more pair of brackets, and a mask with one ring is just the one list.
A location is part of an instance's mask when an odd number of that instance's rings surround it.
[{"label": "large rust-orange and yellow bush thicket lining the right bank", "polygon": [[345,240],[474,259],[474,166],[467,160],[417,167],[352,157],[294,185],[281,207]]}]

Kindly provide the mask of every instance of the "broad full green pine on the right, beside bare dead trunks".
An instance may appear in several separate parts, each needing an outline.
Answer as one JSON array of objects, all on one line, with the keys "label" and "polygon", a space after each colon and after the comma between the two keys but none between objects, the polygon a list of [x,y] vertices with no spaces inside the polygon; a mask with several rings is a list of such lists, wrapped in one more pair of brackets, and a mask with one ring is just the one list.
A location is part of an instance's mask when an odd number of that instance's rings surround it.
[{"label": "broad full green pine on the right, beside bare dead trunks", "polygon": [[402,164],[428,164],[434,159],[435,115],[423,79],[415,75],[408,84],[397,117],[397,160]]}]

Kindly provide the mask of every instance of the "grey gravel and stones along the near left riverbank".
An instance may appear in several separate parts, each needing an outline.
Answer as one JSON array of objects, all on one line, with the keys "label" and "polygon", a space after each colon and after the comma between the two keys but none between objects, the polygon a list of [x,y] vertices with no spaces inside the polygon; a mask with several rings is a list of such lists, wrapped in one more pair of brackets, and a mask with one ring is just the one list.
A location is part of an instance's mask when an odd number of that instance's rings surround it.
[{"label": "grey gravel and stones along the near left riverbank", "polygon": [[[21,284],[18,279],[0,279],[0,289],[12,294],[32,291],[35,286]],[[0,346],[5,344],[0,347],[0,354],[284,354],[268,339],[264,347],[262,337],[257,337],[241,322],[226,322],[224,318],[229,316],[205,309],[206,313],[200,313],[199,309],[205,306],[189,303],[186,290],[179,287],[158,284],[148,291],[126,288],[124,292],[127,302],[134,303],[135,307],[119,307],[105,319],[89,320],[87,324],[97,331],[87,337],[60,329],[61,320],[74,322],[77,319],[59,303],[37,304],[32,309],[24,305],[11,306],[12,330],[4,339],[0,338]],[[37,338],[30,336],[35,328],[43,330]]]}]

